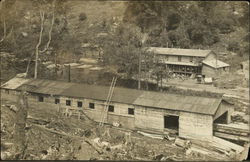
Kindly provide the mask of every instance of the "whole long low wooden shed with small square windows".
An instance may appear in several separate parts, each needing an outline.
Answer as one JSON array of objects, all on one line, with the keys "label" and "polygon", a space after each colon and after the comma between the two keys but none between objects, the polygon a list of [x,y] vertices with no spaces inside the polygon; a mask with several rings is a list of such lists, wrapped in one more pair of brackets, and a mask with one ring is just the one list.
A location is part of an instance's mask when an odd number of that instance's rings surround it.
[{"label": "whole long low wooden shed with small square windows", "polygon": [[[71,108],[100,122],[109,87],[42,79],[13,78],[1,86],[1,97],[27,91],[29,104],[44,109]],[[232,105],[221,98],[186,96],[115,87],[105,123],[132,130],[211,139],[214,123],[229,123]]]}]

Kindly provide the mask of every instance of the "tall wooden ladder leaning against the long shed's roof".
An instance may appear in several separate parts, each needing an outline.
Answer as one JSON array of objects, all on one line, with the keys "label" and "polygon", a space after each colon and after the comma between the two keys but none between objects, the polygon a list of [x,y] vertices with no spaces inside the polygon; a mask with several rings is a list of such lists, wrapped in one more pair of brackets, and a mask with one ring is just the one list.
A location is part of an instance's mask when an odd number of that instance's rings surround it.
[{"label": "tall wooden ladder leaning against the long shed's roof", "polygon": [[116,80],[117,80],[117,77],[113,77],[110,88],[109,88],[107,100],[106,100],[106,102],[104,104],[104,109],[103,109],[102,114],[101,114],[101,122],[99,123],[99,126],[103,126],[103,123],[105,122],[105,118],[107,117],[108,107],[109,107],[111,98],[113,96]]}]

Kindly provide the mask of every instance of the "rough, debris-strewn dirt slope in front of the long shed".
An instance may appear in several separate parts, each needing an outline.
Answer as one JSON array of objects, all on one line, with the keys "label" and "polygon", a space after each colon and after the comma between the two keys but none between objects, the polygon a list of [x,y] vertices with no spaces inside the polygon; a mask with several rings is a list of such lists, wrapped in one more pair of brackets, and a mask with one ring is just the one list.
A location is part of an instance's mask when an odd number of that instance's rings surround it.
[{"label": "rough, debris-strewn dirt slope in front of the long shed", "polygon": [[[128,138],[128,130],[122,128],[99,127],[86,117],[79,120],[34,107],[28,107],[26,126],[17,133],[17,113],[9,105],[17,103],[1,101],[1,159],[218,160],[201,154],[186,155],[185,149],[176,146],[174,140],[153,139],[137,132],[131,132]],[[22,156],[17,156],[15,151],[19,141],[16,140],[20,138],[25,142]]]}]

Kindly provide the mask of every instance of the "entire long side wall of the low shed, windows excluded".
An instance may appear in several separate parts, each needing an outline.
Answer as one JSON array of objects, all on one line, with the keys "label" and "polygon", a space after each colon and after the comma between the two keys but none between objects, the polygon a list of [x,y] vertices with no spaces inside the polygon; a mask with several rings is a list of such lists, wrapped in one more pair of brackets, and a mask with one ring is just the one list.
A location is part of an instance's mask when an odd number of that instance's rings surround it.
[{"label": "entire long side wall of the low shed, windows excluded", "polygon": [[[14,93],[14,92],[13,92]],[[8,94],[9,95],[9,94]],[[29,95],[28,103],[32,106],[31,111],[41,110],[49,113],[57,113],[58,109],[71,108],[82,110],[93,120],[100,122],[101,114],[104,109],[104,102],[93,99],[80,99],[71,97],[60,97],[60,104],[55,104],[55,96],[44,96],[44,102],[38,102],[38,94]],[[71,100],[71,106],[66,106],[66,100]],[[83,107],[77,107],[77,101],[83,102]],[[94,103],[95,108],[89,108],[89,103]],[[179,136],[186,138],[212,138],[213,135],[213,117],[188,112],[179,112],[166,109],[156,109],[143,106],[133,106],[130,104],[111,103],[114,105],[114,112],[108,112],[105,123],[113,124],[117,122],[124,128],[143,129],[145,131],[154,131],[163,133],[164,116],[179,116]],[[128,114],[128,108],[134,108],[134,115]]]}]

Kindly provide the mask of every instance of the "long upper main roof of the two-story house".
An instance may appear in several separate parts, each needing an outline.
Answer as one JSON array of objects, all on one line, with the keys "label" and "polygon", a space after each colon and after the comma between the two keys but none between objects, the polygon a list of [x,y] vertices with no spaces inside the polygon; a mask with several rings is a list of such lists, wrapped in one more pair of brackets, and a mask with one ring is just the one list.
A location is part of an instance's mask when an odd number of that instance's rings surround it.
[{"label": "long upper main roof of the two-story house", "polygon": [[210,52],[212,52],[211,50],[162,48],[162,47],[149,47],[148,51],[160,55],[178,55],[178,56],[196,56],[196,57],[206,57]]}]

